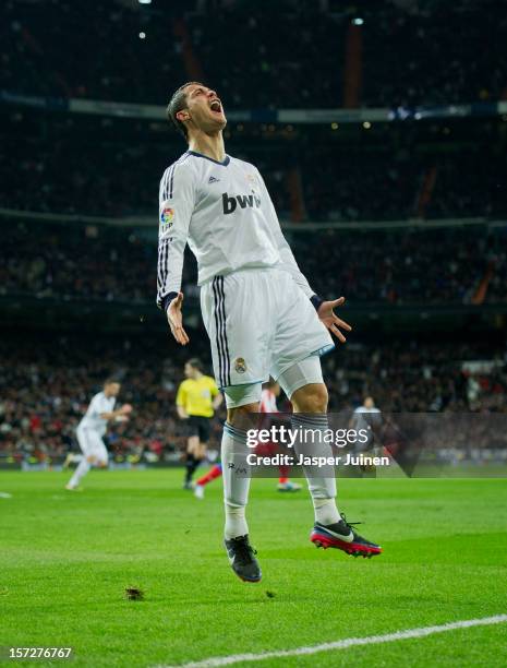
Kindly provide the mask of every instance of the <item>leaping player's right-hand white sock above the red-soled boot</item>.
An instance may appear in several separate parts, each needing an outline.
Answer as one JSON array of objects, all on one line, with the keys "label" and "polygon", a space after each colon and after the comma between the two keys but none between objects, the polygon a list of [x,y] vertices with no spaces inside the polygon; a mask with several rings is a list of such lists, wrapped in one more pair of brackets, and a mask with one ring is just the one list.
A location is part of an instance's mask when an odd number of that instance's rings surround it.
[{"label": "leaping player's right-hand white sock above the red-soled boot", "polygon": [[[303,433],[307,429],[321,431],[322,436],[322,432],[328,428],[327,415],[324,413],[314,415],[294,413],[291,418],[291,428],[299,429],[300,426]],[[329,443],[325,443],[318,436],[315,436],[313,441],[309,437],[306,439],[303,438],[300,443],[297,441],[294,450],[298,454],[303,452],[303,454],[312,456],[330,457],[333,455]],[[335,524],[339,522],[341,517],[335,501],[336,478],[333,475],[334,469],[329,466],[322,469],[316,466],[303,466],[303,470],[312,496],[315,522],[321,524]]]}]

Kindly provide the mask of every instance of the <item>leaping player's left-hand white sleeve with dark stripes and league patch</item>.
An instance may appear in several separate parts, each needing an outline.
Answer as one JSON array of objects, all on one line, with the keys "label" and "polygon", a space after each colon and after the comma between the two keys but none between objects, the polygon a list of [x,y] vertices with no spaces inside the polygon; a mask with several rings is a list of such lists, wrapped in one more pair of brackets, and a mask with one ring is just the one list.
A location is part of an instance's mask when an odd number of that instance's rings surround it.
[{"label": "leaping player's left-hand white sleeve with dark stripes and league patch", "polygon": [[157,306],[181,289],[183,254],[195,204],[194,174],[188,164],[174,163],[160,181],[158,196]]}]

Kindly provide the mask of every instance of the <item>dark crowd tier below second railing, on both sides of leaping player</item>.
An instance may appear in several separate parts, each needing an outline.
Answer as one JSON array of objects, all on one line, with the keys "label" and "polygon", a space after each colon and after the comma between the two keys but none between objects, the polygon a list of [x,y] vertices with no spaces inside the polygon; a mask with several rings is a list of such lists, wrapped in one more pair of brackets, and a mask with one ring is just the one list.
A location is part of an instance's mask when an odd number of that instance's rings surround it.
[{"label": "dark crowd tier below second railing, on both sides of leaping player", "polygon": [[[17,223],[2,235],[0,295],[38,299],[153,302],[156,234],[142,229]],[[507,229],[289,232],[303,274],[324,297],[352,305],[455,305],[507,300]],[[197,296],[186,251],[183,289]]]}]

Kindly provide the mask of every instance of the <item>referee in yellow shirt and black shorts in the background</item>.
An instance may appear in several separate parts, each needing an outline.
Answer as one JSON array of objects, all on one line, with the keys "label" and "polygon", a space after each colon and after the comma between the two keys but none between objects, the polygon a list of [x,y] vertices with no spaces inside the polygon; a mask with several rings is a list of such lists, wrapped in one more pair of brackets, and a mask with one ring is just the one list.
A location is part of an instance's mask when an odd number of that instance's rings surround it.
[{"label": "referee in yellow shirt and black shorts in the background", "polygon": [[221,405],[222,396],[209,375],[204,375],[197,358],[189,359],[184,367],[186,380],[178,389],[176,407],[182,420],[189,420],[190,436],[186,443],[186,473],[184,489],[192,489],[192,476],[206,456],[210,420]]}]

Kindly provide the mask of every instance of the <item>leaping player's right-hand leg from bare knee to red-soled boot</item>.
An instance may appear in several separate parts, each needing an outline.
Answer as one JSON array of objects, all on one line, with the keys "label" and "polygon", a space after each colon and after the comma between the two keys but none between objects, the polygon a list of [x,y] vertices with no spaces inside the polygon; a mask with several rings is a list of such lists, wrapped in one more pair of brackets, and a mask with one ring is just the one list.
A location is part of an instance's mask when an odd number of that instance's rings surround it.
[{"label": "leaping player's right-hand leg from bare knee to red-soled boot", "polygon": [[[309,430],[327,429],[327,399],[324,383],[310,383],[297,390],[291,396],[294,428],[301,425]],[[330,454],[329,445],[324,440],[312,445],[313,452],[319,455],[321,452],[316,452],[314,448],[322,451],[324,456]],[[315,525],[310,536],[312,542],[325,549],[330,547],[343,550],[353,557],[370,558],[379,554],[382,548],[357,534],[345,515],[338,511],[335,476],[326,476],[325,472],[315,467],[305,467],[304,473],[315,510]]]}]

